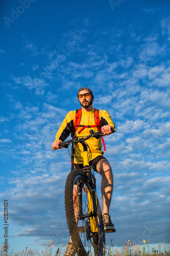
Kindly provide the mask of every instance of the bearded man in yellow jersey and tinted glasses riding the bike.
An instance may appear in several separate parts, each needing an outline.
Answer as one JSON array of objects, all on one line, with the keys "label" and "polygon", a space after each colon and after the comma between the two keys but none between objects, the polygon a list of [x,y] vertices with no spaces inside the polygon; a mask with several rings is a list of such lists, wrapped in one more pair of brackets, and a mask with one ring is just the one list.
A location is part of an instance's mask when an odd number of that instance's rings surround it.
[{"label": "bearded man in yellow jersey and tinted glasses riding the bike", "polygon": [[[101,131],[103,132],[103,136],[106,136],[112,133],[111,129],[115,130],[115,125],[111,120],[111,116],[109,115],[109,113],[104,110],[98,111],[93,108],[92,103],[94,96],[89,88],[81,88],[78,91],[78,99],[81,104],[81,109],[79,111],[68,112],[57,132],[56,140],[52,143],[53,150],[57,150],[60,143],[62,143],[69,136],[70,133],[72,133],[76,137],[87,136],[89,135],[89,131],[91,129],[96,132],[101,129]],[[94,114],[94,112],[96,114]],[[77,119],[79,119],[80,122],[77,122]],[[96,124],[95,119],[100,119],[101,128],[99,128],[99,121]],[[89,164],[93,164],[94,170],[102,175],[101,192],[103,198],[102,215],[104,227],[106,230],[112,230],[114,229],[114,225],[111,222],[111,218],[109,215],[109,207],[113,190],[113,175],[111,166],[107,159],[103,156],[103,151],[101,150],[101,139],[90,138],[87,141],[87,144],[89,145],[92,152],[92,157]],[[71,170],[82,168],[83,146],[81,144],[78,144],[75,152],[72,148],[71,156]],[[70,243],[67,245],[67,251],[65,255],[67,255],[67,253],[69,255],[70,251],[72,253],[71,255],[74,255],[74,246],[71,239]]]}]

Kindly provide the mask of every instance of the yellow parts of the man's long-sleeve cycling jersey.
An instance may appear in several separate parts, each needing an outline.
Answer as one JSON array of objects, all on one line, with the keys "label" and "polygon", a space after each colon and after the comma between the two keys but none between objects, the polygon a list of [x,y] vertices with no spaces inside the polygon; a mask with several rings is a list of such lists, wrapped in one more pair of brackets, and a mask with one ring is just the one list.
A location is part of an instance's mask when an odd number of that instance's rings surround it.
[{"label": "yellow parts of the man's long-sleeve cycling jersey", "polygon": [[[99,116],[100,116],[100,122],[101,126],[104,125],[111,125],[115,128],[115,124],[113,123],[111,116],[109,113],[105,110],[100,110],[99,111]],[[63,123],[61,124],[57,135],[56,135],[56,140],[55,141],[64,141],[70,133],[74,131],[74,123],[75,123],[75,117],[76,117],[76,110],[75,111],[70,111],[66,115]],[[89,112],[84,112],[82,111],[81,115],[81,120],[80,120],[80,125],[95,125],[94,121],[94,109]],[[75,132],[75,137],[78,136],[87,136],[90,134],[90,130],[92,129],[95,132],[98,132],[97,127],[93,128],[85,128],[81,133],[78,133],[81,130],[82,127],[78,127],[77,131]],[[89,145],[92,157],[91,160],[93,160],[95,157],[99,155],[103,155],[103,151],[101,150],[102,144],[101,144],[101,139],[95,139],[95,138],[90,138],[86,140],[86,143]],[[72,162],[74,163],[83,163],[83,146],[81,143],[79,143],[76,148],[72,147]]]}]

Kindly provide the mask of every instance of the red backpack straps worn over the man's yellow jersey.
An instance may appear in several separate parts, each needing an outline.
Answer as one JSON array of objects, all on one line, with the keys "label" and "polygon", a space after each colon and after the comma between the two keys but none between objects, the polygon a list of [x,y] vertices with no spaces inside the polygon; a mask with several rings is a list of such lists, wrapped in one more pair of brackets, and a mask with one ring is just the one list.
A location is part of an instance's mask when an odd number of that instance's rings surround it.
[{"label": "red backpack straps worn over the man's yellow jersey", "polygon": [[[74,124],[74,132],[72,132],[72,138],[74,138],[75,132],[77,131],[78,127],[82,127],[78,133],[81,133],[85,128],[97,127],[98,131],[101,131],[101,121],[99,116],[99,110],[94,109],[94,121],[95,125],[82,125],[80,124],[82,116],[82,109],[76,110],[76,117],[75,117],[75,124]],[[104,142],[104,138],[102,136],[102,142],[104,146],[104,151],[106,151],[106,146]]]}]

